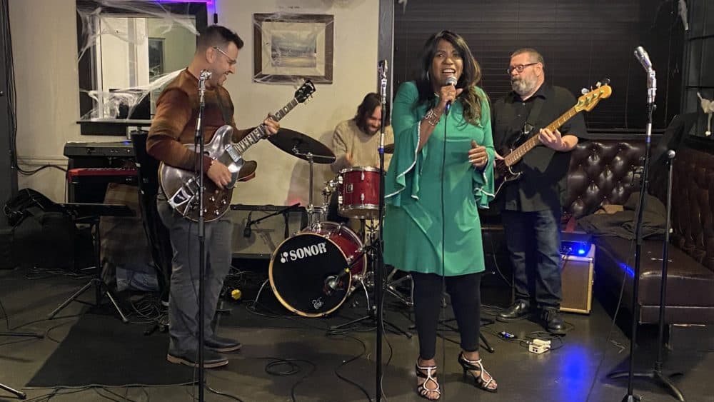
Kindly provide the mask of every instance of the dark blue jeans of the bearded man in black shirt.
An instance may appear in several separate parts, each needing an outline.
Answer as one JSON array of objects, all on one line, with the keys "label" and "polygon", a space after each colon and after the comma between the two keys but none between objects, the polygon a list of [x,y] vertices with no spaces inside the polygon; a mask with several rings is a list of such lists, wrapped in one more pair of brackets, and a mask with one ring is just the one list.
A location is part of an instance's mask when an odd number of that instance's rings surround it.
[{"label": "dark blue jeans of the bearded man in black shirt", "polygon": [[[503,211],[516,301],[560,308],[560,210]],[[535,302],[535,306],[534,306]]]}]

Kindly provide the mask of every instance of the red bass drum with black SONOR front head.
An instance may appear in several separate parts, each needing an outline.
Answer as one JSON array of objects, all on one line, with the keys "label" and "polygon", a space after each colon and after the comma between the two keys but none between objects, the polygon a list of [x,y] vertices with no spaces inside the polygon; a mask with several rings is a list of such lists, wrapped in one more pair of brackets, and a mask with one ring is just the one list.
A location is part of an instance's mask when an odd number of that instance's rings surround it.
[{"label": "red bass drum with black SONOR front head", "polygon": [[[364,273],[362,253],[362,241],[346,226],[320,222],[306,228],[286,238],[273,253],[268,270],[273,293],[293,313],[325,316],[349,296],[353,276]],[[345,268],[350,268],[350,275],[338,278]]]}]

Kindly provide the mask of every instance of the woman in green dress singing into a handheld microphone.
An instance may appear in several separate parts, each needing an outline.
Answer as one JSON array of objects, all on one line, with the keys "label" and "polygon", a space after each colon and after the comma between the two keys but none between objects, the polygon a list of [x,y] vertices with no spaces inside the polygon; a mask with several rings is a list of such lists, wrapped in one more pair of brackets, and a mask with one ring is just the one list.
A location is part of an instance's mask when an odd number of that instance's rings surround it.
[{"label": "woman in green dress singing into a handheld microphone", "polygon": [[443,283],[461,333],[464,377],[486,391],[498,388],[478,354],[484,258],[477,208],[493,199],[494,158],[479,79],[466,41],[441,31],[424,44],[418,78],[399,87],[393,104],[384,258],[414,281],[417,391],[430,400],[441,396],[435,355]]}]

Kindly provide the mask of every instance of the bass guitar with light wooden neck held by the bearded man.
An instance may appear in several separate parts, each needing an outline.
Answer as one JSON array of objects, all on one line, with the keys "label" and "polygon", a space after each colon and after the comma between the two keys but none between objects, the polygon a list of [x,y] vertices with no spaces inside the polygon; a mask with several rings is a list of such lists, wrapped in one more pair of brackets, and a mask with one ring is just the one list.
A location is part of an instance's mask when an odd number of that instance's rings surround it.
[{"label": "bass guitar with light wooden neck held by the bearded man", "polygon": [[[605,80],[603,80],[605,81]],[[605,81],[608,82],[608,81]],[[563,126],[565,122],[572,119],[573,116],[580,113],[581,111],[591,111],[598,104],[600,99],[609,98],[613,93],[613,89],[610,88],[608,84],[600,84],[596,89],[580,96],[578,98],[578,103],[572,108],[568,109],[564,114],[562,114],[558,119],[555,119],[552,123],[546,126],[547,129],[555,131]],[[516,181],[521,177],[522,172],[515,171],[513,166],[518,164],[523,156],[535,148],[540,142],[538,135],[532,136],[526,142],[518,146],[516,149],[512,149],[502,160],[497,160],[496,164],[493,166],[493,187],[495,189],[495,194],[498,196],[498,192],[501,191],[503,186],[506,186],[511,181]]]}]

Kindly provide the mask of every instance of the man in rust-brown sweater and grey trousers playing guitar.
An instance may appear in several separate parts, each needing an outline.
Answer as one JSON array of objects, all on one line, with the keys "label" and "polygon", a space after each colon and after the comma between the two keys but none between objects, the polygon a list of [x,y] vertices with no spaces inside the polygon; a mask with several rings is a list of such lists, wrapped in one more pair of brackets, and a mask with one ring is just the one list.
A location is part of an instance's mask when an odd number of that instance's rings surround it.
[{"label": "man in rust-brown sweater and grey trousers playing guitar", "polygon": [[[211,72],[205,81],[203,110],[203,141],[211,141],[214,132],[224,124],[234,129],[233,141],[248,134],[248,130],[236,130],[233,119],[233,102],[223,83],[228,74],[236,72],[236,58],[243,41],[235,32],[223,26],[208,26],[196,41],[196,53],[188,68],[171,81],[156,101],[156,114],[146,139],[146,151],[164,164],[193,171],[198,169],[199,156],[183,146],[192,144],[196,132],[199,109],[198,77],[201,71]],[[278,132],[278,123],[268,116],[263,121],[268,135]],[[255,169],[255,164],[246,164],[243,169]],[[208,156],[203,156],[203,169],[219,189],[231,181],[231,172]],[[241,176],[245,176],[241,171]],[[159,216],[171,234],[174,260],[171,272],[169,297],[169,354],[171,363],[198,366],[198,226],[176,213],[166,196],[157,198]],[[233,225],[223,216],[206,222],[206,300],[204,303],[204,333],[206,351],[203,364],[206,368],[225,366],[226,357],[217,352],[237,351],[241,343],[213,333],[211,320],[216,313],[218,295],[223,279],[231,267],[231,235]]]}]

